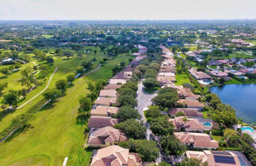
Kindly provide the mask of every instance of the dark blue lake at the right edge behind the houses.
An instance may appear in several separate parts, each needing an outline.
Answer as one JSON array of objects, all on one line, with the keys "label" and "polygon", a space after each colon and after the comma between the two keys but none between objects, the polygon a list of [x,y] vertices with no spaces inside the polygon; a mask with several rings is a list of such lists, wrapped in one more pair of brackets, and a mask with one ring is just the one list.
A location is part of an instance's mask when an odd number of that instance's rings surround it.
[{"label": "dark blue lake at the right edge behind the houses", "polygon": [[211,87],[210,90],[236,110],[237,118],[242,118],[247,124],[256,122],[256,84],[231,84]]}]

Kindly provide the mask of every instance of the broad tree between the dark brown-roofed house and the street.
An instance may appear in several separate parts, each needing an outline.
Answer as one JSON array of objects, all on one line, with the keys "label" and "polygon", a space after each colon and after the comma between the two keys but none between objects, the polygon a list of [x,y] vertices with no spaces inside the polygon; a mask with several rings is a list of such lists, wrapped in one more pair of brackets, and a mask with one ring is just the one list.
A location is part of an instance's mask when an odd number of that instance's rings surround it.
[{"label": "broad tree between the dark brown-roofed house and the street", "polygon": [[114,128],[121,129],[129,138],[141,139],[145,137],[147,127],[143,121],[136,121],[135,119],[128,119],[124,122],[114,125]]}]

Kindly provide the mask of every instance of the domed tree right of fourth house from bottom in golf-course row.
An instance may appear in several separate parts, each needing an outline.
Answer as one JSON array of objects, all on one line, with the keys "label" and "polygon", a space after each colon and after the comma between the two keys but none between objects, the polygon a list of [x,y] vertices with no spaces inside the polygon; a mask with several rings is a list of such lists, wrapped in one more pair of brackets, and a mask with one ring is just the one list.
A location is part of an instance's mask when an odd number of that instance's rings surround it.
[{"label": "domed tree right of fourth house from bottom in golf-course row", "polygon": [[141,119],[141,115],[138,110],[135,110],[132,106],[122,106],[118,113],[114,115],[114,118],[128,120],[128,119]]}]

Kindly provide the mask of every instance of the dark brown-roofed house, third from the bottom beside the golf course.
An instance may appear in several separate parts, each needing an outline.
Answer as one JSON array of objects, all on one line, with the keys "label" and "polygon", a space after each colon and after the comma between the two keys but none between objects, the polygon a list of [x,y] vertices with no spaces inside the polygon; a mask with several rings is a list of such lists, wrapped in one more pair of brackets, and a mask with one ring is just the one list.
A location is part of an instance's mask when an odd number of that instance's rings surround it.
[{"label": "dark brown-roofed house, third from the bottom beside the golf course", "polygon": [[91,116],[88,122],[88,128],[113,127],[115,124],[118,124],[118,119],[112,117]]}]

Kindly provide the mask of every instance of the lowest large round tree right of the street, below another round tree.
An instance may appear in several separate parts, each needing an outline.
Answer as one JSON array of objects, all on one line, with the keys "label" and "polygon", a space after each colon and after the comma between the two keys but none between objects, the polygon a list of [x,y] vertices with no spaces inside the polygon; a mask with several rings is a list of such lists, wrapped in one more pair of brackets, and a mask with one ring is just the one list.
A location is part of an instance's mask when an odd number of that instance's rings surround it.
[{"label": "lowest large round tree right of the street, below another round tree", "polygon": [[186,151],[186,146],[180,144],[180,140],[175,135],[163,136],[160,142],[165,155],[182,155]]}]

